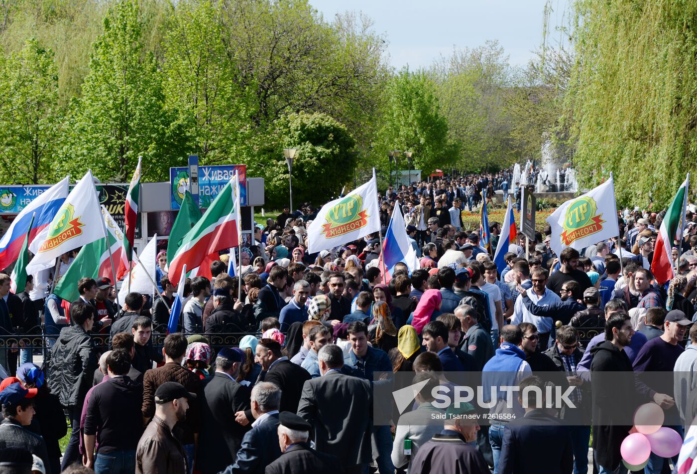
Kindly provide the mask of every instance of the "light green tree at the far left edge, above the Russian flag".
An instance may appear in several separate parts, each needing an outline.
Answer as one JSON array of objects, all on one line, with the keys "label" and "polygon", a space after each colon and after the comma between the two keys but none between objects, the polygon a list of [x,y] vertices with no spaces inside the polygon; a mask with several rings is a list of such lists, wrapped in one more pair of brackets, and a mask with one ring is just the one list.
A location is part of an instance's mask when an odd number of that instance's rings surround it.
[{"label": "light green tree at the far left edge, above the Russian flag", "polygon": [[50,158],[59,149],[65,122],[54,54],[29,40],[1,68],[0,170],[6,182],[51,182],[56,174]]}]

